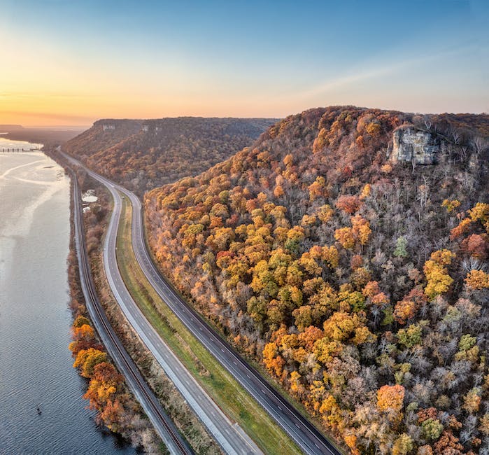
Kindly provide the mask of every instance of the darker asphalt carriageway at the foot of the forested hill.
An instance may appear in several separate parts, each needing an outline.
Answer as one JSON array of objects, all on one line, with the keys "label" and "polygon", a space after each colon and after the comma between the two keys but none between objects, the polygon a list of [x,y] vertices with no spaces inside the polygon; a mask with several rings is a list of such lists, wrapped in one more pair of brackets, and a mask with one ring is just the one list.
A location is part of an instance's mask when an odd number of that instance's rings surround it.
[{"label": "darker asphalt carriageway at the foot of the forested hill", "polygon": [[[132,246],[136,259],[148,281],[166,302],[169,308],[178,316],[199,341],[206,346],[213,356],[226,368],[229,373],[257,400],[258,403],[272,416],[278,425],[294,440],[308,455],[328,454],[341,455],[332,442],[316,426],[313,426],[281,393],[278,393],[255,368],[251,367],[232,347],[213,330],[185,300],[166,282],[158,272],[144,239],[142,206],[139,198],[122,186],[92,172],[90,169],[63,154],[73,162],[83,167],[90,176],[104,183],[109,190],[124,193],[132,202]],[[111,191],[112,192],[112,191]],[[114,202],[114,210],[119,202]],[[120,210],[120,207],[119,207]],[[114,240],[115,241],[115,240]]]}]

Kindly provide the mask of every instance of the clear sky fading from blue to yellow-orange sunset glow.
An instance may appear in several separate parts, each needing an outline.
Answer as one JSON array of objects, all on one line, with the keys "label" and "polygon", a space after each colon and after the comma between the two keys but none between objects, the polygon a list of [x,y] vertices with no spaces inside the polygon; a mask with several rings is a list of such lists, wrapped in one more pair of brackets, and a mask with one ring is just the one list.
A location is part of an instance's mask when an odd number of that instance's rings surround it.
[{"label": "clear sky fading from blue to yellow-orange sunset glow", "polygon": [[489,1],[0,0],[0,125],[489,112]]}]

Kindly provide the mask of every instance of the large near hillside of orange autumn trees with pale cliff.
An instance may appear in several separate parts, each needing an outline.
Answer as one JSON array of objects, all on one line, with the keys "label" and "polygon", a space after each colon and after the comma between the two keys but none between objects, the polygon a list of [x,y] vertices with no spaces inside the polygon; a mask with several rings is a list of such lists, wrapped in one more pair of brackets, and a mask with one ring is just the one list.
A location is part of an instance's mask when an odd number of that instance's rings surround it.
[{"label": "large near hillside of orange autumn trees with pale cliff", "polygon": [[488,125],[290,116],[147,193],[150,246],[352,454],[488,454]]}]

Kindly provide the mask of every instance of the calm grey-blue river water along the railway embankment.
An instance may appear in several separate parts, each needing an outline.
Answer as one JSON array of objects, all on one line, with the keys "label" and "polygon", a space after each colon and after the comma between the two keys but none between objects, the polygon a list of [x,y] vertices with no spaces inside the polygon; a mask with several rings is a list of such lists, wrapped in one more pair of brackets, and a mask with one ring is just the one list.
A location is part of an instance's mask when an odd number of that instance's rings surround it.
[{"label": "calm grey-blue river water along the railway embankment", "polygon": [[97,428],[81,398],[68,350],[68,246],[62,168],[42,153],[0,153],[1,455],[135,453]]}]

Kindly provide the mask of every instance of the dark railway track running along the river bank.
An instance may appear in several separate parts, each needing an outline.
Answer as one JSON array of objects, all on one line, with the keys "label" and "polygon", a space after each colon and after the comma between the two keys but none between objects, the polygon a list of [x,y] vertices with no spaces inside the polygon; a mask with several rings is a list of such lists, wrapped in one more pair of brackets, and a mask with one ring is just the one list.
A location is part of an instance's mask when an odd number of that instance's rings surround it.
[{"label": "dark railway track running along the river bank", "polygon": [[69,172],[73,183],[73,220],[75,225],[76,255],[80,271],[80,283],[90,318],[92,318],[92,322],[104,346],[106,346],[109,355],[118,366],[119,371],[124,375],[127,385],[141,403],[141,406],[148,415],[151,423],[153,423],[155,430],[162,438],[170,454],[193,454],[193,451],[180,436],[169,416],[164,412],[154,393],[148,388],[132,358],[124,346],[122,346],[120,339],[115,334],[99,302],[87,258],[87,249],[85,248],[83,209],[82,204],[80,204],[81,196],[78,188],[78,180],[71,169],[69,169]]}]

